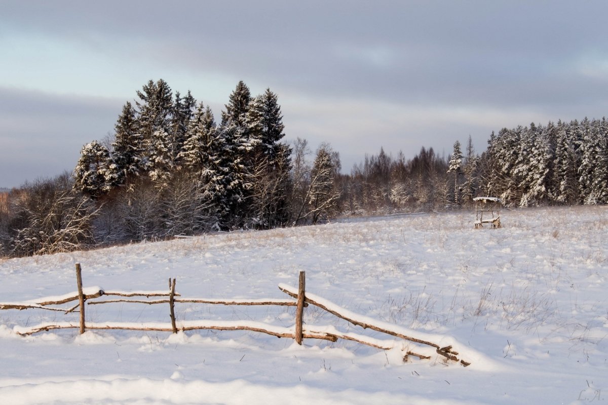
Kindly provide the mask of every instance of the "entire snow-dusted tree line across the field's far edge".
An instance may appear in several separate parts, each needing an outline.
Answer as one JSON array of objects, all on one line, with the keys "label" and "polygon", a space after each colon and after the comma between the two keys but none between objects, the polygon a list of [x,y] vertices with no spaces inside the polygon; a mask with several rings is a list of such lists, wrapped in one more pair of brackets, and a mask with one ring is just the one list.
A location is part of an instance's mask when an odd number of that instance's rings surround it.
[{"label": "entire snow-dusted tree line across the field's far edge", "polygon": [[91,141],[70,174],[0,199],[0,255],[27,256],[210,231],[269,229],[337,216],[608,202],[608,125],[584,120],[503,128],[481,155],[471,137],[445,157],[380,149],[350,174],[328,143],[283,141],[278,97],[240,81],[216,123],[164,80],[127,101],[113,137]]}]

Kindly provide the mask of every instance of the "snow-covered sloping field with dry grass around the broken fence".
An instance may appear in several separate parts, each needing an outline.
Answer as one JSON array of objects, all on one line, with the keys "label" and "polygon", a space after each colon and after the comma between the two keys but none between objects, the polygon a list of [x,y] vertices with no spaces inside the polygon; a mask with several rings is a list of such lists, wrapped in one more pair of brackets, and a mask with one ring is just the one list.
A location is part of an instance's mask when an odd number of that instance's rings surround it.
[{"label": "snow-covered sloping field with dry grass around the broken fence", "polygon": [[[2,404],[583,404],[608,399],[608,209],[384,217],[0,261],[0,302],[85,287],[184,298],[288,299],[278,284],[421,336],[445,336],[471,366],[356,342],[255,332],[55,330],[78,314],[0,311]],[[72,306],[74,304],[67,304]],[[88,305],[88,322],[169,322],[168,305]],[[294,325],[293,307],[176,304],[180,321]],[[310,325],[394,340],[316,307]]]}]

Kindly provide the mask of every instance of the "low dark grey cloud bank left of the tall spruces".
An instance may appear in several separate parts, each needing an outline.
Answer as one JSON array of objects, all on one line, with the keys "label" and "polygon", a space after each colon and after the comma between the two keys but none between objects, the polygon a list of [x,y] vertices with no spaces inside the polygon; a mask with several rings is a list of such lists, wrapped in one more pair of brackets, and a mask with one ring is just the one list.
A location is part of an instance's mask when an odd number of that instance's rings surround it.
[{"label": "low dark grey cloud bank left of the tall spruces", "polygon": [[85,143],[113,131],[122,103],[0,87],[0,187],[74,169]]}]

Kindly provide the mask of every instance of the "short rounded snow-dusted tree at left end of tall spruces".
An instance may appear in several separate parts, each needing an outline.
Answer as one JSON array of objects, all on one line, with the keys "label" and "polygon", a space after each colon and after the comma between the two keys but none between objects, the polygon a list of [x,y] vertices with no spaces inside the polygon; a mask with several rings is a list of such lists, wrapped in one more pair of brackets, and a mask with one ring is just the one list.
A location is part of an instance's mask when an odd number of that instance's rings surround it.
[{"label": "short rounded snow-dusted tree at left end of tall spruces", "polygon": [[82,147],[74,168],[75,189],[96,199],[116,186],[118,179],[117,167],[110,158],[108,148],[98,141]]}]

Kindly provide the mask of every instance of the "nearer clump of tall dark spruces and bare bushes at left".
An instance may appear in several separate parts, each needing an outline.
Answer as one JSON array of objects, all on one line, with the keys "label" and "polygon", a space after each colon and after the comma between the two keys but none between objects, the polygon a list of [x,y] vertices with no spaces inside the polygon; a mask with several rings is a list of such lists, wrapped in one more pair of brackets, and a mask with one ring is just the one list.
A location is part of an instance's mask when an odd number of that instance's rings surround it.
[{"label": "nearer clump of tall dark spruces and bare bushes at left", "polygon": [[[283,142],[270,89],[240,81],[221,121],[188,92],[150,80],[122,108],[114,136],[81,149],[73,173],[13,189],[0,206],[4,256],[268,229],[337,214],[339,155]],[[60,233],[55,232],[60,231]]]}]

